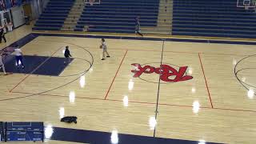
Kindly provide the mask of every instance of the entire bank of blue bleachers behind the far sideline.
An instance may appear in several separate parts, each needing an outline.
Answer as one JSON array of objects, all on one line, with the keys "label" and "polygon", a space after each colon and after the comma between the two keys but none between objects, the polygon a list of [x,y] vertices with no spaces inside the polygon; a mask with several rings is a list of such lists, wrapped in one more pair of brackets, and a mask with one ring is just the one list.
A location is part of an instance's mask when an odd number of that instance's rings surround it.
[{"label": "entire bank of blue bleachers behind the far sideline", "polygon": [[[33,30],[61,30],[73,5],[74,0],[50,0]],[[142,27],[158,26],[158,9],[159,0],[102,0],[81,9],[71,30],[134,33],[137,16]],[[236,0],[174,0],[171,34],[256,38],[256,13],[237,7]]]}]

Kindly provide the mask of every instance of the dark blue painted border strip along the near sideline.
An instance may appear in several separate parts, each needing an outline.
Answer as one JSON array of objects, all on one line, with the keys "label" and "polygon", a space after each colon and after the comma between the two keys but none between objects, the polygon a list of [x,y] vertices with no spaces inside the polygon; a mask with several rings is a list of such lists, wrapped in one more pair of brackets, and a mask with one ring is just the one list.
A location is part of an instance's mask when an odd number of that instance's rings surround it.
[{"label": "dark blue painted border strip along the near sideline", "polygon": [[[72,124],[71,124],[72,125]],[[111,142],[111,133],[78,130],[62,127],[53,127],[54,133],[51,140],[66,142],[81,142],[90,144],[113,144]],[[202,144],[202,142],[172,139],[172,138],[156,138],[141,135],[118,134],[118,143],[116,144]],[[205,144],[218,144],[213,142],[205,142]]]}]

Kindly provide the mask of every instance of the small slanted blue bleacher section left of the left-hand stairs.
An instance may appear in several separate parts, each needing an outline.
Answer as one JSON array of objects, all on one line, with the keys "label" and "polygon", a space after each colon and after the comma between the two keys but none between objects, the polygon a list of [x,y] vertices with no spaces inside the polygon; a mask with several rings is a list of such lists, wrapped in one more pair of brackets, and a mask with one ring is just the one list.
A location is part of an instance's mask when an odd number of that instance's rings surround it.
[{"label": "small slanted blue bleacher section left of the left-hand stairs", "polygon": [[73,4],[74,0],[50,0],[33,30],[61,30]]}]

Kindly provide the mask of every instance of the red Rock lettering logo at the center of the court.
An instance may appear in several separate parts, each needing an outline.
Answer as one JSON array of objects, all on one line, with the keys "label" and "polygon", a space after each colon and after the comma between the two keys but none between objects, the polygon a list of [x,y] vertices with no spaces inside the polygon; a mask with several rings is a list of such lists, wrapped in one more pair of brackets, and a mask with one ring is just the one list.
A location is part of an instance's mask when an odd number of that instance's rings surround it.
[{"label": "red Rock lettering logo at the center of the court", "polygon": [[[146,82],[158,83],[159,74],[161,83],[170,83],[170,82],[182,82],[188,81],[193,77],[187,74],[188,66],[175,66],[172,64],[159,64],[159,63],[150,63],[150,64],[139,64],[133,63],[134,70],[131,70],[134,73],[134,78],[140,78]],[[153,75],[154,74],[154,75]]]}]

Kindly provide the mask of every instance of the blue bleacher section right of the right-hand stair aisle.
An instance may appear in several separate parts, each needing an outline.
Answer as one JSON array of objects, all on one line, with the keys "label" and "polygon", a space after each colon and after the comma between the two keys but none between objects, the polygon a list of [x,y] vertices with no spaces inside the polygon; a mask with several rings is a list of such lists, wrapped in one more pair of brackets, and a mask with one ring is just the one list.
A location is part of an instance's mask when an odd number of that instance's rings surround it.
[{"label": "blue bleacher section right of the right-hand stair aisle", "polygon": [[236,0],[174,0],[172,34],[256,38],[256,14]]}]

